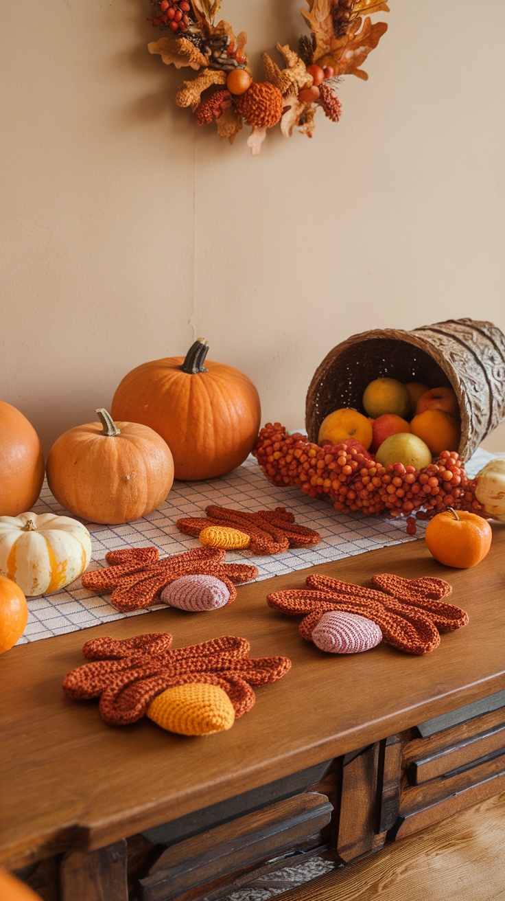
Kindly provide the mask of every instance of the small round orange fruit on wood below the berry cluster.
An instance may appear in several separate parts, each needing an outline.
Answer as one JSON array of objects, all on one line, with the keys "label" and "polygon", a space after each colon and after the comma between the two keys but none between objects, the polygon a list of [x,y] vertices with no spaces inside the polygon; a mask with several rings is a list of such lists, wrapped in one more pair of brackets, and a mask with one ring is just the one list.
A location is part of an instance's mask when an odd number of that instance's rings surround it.
[{"label": "small round orange fruit on wood below the berry cluster", "polygon": [[491,525],[482,516],[452,508],[438,513],[424,533],[428,551],[445,566],[468,569],[484,559],[491,548]]}]

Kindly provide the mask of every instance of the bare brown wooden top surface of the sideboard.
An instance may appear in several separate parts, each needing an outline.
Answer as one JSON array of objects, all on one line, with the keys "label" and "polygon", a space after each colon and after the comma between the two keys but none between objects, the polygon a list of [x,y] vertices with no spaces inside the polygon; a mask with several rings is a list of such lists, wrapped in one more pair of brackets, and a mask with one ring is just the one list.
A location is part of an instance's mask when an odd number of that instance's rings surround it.
[{"label": "bare brown wooden top surface of the sideboard", "polygon": [[[447,569],[424,541],[239,587],[212,613],[153,611],[81,632],[23,644],[0,657],[0,862],[14,867],[69,848],[94,849],[264,786],[469,704],[505,687],[505,524],[493,523],[491,551],[474,569]],[[311,572],[368,584],[379,572],[446,578],[470,623],[414,657],[381,644],[365,654],[319,651],[298,633],[298,617],[266,605],[269,591],[302,587]],[[110,727],[96,701],[61,688],[99,635],[167,631],[174,647],[240,635],[251,656],[293,661],[230,732],[166,733],[148,719]]]}]

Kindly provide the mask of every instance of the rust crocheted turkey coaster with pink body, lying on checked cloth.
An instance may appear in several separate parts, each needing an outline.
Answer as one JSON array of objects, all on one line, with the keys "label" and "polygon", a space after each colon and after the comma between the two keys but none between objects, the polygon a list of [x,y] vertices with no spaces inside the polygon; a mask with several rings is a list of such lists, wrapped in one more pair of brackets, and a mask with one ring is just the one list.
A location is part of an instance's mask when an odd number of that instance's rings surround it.
[{"label": "rust crocheted turkey coaster with pink body, lying on checked cloth", "polygon": [[[194,548],[182,554],[174,554],[159,560],[157,548],[126,548],[105,554],[107,569],[85,572],[83,587],[100,593],[112,592],[111,604],[122,612],[144,610],[158,604],[160,593],[176,579],[189,576],[212,576],[221,582],[221,596],[224,589],[229,592],[227,604],[237,596],[236,585],[251,582],[257,577],[257,567],[246,563],[225,563],[226,551],[217,548]],[[210,602],[209,585],[193,581],[191,588],[185,583],[185,591],[192,598],[188,606],[181,604],[182,589],[176,591],[179,603],[174,606],[188,610],[210,610],[215,605]],[[197,596],[200,600],[197,600]],[[206,600],[205,600],[206,598]],[[167,602],[166,602],[167,603]],[[221,606],[221,605],[220,605]]]}]

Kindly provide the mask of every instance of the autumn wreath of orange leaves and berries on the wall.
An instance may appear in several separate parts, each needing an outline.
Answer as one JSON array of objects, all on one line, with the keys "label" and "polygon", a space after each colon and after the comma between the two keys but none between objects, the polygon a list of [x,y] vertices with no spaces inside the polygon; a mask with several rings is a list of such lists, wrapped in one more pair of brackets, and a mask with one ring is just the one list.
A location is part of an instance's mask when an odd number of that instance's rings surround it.
[{"label": "autumn wreath of orange leaves and berries on the wall", "polygon": [[215,24],[221,0],[152,0],[156,15],[149,21],[167,36],[149,43],[167,65],[193,68],[196,77],[176,93],[176,104],[190,107],[199,125],[217,124],[221,140],[233,143],[244,122],[252,126],[248,146],[259,153],[266,130],[280,124],[284,137],[293,128],[312,136],[321,107],[338,122],[338,84],[343,75],[367,78],[360,66],[387,29],[369,16],[388,12],[382,0],[306,0],[302,10],[311,34],[298,49],[277,43],[280,68],[263,54],[265,80],[255,81],[245,53],[246,32],[235,36],[224,20]]}]

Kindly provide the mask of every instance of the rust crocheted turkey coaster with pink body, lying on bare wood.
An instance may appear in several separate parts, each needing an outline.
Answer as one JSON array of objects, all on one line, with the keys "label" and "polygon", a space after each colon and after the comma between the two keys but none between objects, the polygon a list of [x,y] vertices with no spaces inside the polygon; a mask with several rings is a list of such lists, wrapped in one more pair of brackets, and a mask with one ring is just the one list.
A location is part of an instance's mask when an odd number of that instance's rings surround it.
[{"label": "rust crocheted turkey coaster with pink body, lying on bare wood", "polygon": [[[374,576],[372,581],[375,585],[387,588],[391,594],[342,582],[338,578],[313,575],[305,581],[307,588],[273,592],[267,596],[266,602],[284,614],[305,614],[299,626],[300,634],[307,641],[314,641],[316,632],[314,643],[318,647],[321,643],[325,644],[322,648],[325,651],[334,651],[338,642],[345,644],[349,641],[345,634],[342,635],[342,625],[332,623],[327,618],[334,611],[365,617],[379,627],[384,642],[409,654],[434,651],[440,643],[439,632],[453,631],[468,623],[468,614],[461,607],[439,600],[452,591],[450,585],[442,579],[408,579],[383,574]],[[395,588],[401,594],[401,601],[392,596]],[[357,628],[356,623],[354,628]],[[361,642],[371,640],[369,630],[367,632],[364,625],[361,626],[360,635]],[[353,640],[357,650],[364,650],[359,647],[360,641],[356,639],[356,635]],[[331,642],[335,647],[330,647]],[[370,647],[373,646],[370,644]]]}]

